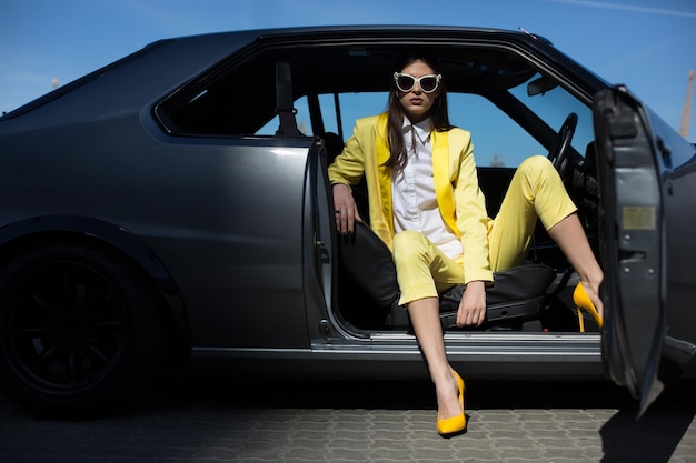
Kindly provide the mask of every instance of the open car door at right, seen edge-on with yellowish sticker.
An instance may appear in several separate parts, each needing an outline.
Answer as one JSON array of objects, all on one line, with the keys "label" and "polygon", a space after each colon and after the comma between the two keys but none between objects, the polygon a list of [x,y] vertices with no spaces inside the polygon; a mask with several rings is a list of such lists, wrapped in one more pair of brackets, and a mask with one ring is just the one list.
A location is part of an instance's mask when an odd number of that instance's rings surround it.
[{"label": "open car door at right, seen edge-on with yellowish sticker", "polygon": [[595,97],[594,124],[605,270],[603,361],[609,378],[640,400],[643,414],[664,389],[660,363],[680,371],[695,346],[667,335],[664,167],[648,114],[624,87],[615,87]]}]

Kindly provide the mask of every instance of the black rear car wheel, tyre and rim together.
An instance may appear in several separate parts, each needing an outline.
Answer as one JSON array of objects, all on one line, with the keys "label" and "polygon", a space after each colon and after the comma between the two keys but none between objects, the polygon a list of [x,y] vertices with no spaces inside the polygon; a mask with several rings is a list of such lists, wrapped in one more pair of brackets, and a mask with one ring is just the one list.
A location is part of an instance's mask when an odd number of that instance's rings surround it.
[{"label": "black rear car wheel, tyre and rim together", "polygon": [[0,381],[31,410],[99,413],[149,385],[162,354],[152,290],[100,248],[50,244],[0,269]]}]

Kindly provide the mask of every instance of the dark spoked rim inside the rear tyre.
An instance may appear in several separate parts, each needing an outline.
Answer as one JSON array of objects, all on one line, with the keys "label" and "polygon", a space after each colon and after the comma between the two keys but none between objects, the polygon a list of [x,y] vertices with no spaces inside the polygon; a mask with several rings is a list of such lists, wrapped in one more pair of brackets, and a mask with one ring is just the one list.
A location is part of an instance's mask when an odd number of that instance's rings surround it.
[{"label": "dark spoked rim inside the rear tyre", "polygon": [[83,391],[122,356],[127,316],[120,293],[93,266],[36,265],[6,298],[6,352],[17,376],[50,394]]}]

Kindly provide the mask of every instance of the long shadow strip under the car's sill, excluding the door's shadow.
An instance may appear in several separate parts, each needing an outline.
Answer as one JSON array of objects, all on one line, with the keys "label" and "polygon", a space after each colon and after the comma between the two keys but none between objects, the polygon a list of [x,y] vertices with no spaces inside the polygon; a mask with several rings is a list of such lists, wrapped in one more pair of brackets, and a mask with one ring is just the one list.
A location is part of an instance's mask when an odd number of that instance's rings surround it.
[{"label": "long shadow strip under the car's sill, excluding the door's shadow", "polygon": [[[397,409],[432,410],[435,390],[429,380],[243,380],[197,374],[176,387],[158,391],[147,403],[193,401],[211,406],[245,409]],[[470,409],[622,409],[633,399],[609,382],[487,382],[468,381]],[[137,413],[137,407],[131,410]]]}]

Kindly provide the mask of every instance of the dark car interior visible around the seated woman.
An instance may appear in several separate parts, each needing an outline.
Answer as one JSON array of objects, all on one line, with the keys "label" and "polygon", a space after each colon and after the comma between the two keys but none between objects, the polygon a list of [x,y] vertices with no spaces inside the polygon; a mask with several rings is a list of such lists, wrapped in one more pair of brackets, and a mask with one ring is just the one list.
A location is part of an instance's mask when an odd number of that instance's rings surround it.
[{"label": "dark car interior visible around the seated woman", "polygon": [[[309,39],[296,46],[286,41],[282,47],[255,43],[162,101],[156,115],[168,131],[180,135],[312,138],[324,148],[326,167],[340,153],[357,118],[385,110],[394,68],[405,51],[428,57],[440,67],[451,122],[473,133],[488,214],[495,218],[519,161],[531,154],[548,155],[596,251],[598,187],[589,101],[577,97],[571,83],[540,69],[534,57],[504,43],[424,43],[418,38],[336,46],[316,46]],[[354,192],[367,218],[364,187],[357,185]],[[362,235],[368,234],[366,228]],[[349,243],[341,238],[336,241],[337,318],[355,332],[409,330],[402,308],[370,295],[369,285],[376,282],[370,283],[366,269],[371,262],[347,264]],[[384,252],[379,242],[371,245],[376,253]],[[571,302],[577,274],[540,225],[527,262],[495,275],[488,321],[480,328],[455,325],[461,288],[443,294],[444,329],[578,331]],[[586,326],[596,330],[591,319]]]}]

